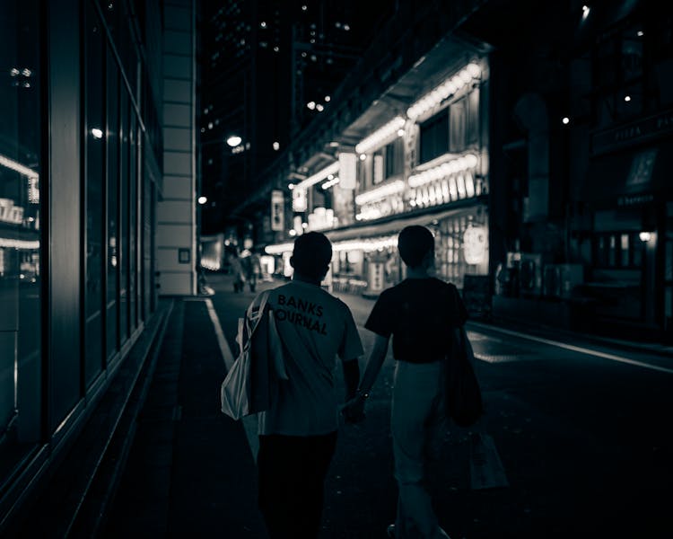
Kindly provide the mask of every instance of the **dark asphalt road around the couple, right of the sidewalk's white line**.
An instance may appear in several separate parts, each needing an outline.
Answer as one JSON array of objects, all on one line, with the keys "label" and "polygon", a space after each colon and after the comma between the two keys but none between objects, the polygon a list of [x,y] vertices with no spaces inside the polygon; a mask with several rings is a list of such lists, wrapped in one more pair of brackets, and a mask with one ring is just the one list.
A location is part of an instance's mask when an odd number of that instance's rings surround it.
[{"label": "dark asphalt road around the couple, right of the sidewalk's white line", "polygon": [[[208,281],[234,349],[236,320],[254,295],[234,295],[227,276]],[[372,336],[362,326],[373,301],[339,296],[361,330],[363,368]],[[450,426],[429,484],[451,537],[673,537],[673,359],[483,324],[470,324],[468,335],[487,411],[478,429],[494,438],[510,485],[470,490],[470,430]],[[383,537],[394,519],[392,371],[389,357],[367,419],[339,433],[321,539]]]}]

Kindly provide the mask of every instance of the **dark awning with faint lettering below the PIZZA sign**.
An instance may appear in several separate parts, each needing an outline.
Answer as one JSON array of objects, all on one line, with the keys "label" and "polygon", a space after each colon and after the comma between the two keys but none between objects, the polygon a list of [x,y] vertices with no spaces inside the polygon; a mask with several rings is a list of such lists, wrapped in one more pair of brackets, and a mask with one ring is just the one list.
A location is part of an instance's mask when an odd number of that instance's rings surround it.
[{"label": "dark awning with faint lettering below the PIZZA sign", "polygon": [[673,143],[645,146],[590,160],[580,199],[595,206],[638,206],[670,189]]}]

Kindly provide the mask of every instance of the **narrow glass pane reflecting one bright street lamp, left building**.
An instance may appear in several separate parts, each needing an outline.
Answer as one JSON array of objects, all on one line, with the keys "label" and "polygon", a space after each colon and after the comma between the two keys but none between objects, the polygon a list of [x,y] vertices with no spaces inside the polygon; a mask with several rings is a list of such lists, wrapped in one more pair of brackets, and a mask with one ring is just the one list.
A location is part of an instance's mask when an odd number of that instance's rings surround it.
[{"label": "narrow glass pane reflecting one bright street lamp, left building", "polygon": [[85,382],[91,384],[103,367],[102,339],[102,244],[105,145],[103,118],[103,32],[93,4],[86,4],[85,110],[86,110],[86,292],[85,305]]}]

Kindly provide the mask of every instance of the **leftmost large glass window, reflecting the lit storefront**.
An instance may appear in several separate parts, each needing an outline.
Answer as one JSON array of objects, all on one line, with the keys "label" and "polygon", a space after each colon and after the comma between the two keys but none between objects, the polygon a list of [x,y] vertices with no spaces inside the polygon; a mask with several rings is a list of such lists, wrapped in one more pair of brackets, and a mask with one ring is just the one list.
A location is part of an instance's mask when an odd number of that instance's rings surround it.
[{"label": "leftmost large glass window, reflecting the lit storefront", "polygon": [[0,9],[0,480],[40,437],[39,12]]}]

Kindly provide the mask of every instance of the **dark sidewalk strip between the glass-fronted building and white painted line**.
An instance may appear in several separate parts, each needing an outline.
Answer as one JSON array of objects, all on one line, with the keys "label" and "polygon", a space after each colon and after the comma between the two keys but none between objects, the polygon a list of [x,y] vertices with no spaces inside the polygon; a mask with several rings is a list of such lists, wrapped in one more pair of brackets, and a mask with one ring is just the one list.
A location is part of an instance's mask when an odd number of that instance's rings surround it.
[{"label": "dark sidewalk strip between the glass-fronted building and white painted line", "polygon": [[103,537],[265,539],[240,422],[220,411],[223,358],[204,299],[176,299]]}]

